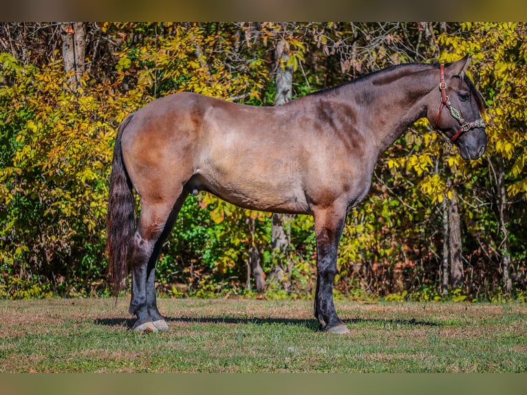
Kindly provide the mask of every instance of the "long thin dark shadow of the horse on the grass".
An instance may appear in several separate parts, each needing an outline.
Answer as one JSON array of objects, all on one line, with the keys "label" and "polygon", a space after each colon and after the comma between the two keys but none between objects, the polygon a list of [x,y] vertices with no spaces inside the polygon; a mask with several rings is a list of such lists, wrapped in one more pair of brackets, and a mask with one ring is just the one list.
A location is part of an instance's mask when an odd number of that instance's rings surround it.
[{"label": "long thin dark shadow of the horse on the grass", "polygon": [[[107,326],[125,326],[131,329],[136,319],[134,318],[100,318],[95,319],[95,325]],[[316,319],[286,319],[286,318],[232,318],[232,317],[165,317],[166,322],[175,323],[213,323],[213,324],[255,324],[255,325],[295,325],[308,328],[310,330],[319,330],[319,323]],[[353,325],[359,323],[374,323],[380,325],[410,325],[410,326],[441,326],[442,324],[431,321],[420,321],[416,319],[363,319],[352,318],[343,319],[346,325]]]}]

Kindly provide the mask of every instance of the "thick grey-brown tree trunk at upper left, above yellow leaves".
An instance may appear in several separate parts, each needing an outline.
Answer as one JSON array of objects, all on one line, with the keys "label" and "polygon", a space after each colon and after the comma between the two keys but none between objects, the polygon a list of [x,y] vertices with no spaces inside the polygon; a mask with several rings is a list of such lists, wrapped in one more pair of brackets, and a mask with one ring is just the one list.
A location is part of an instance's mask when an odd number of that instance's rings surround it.
[{"label": "thick grey-brown tree trunk at upper left, above yellow leaves", "polygon": [[85,72],[85,23],[63,23],[61,26],[61,35],[64,70],[66,73],[73,73],[69,78],[69,87],[76,91],[80,86],[80,77],[83,76]]}]

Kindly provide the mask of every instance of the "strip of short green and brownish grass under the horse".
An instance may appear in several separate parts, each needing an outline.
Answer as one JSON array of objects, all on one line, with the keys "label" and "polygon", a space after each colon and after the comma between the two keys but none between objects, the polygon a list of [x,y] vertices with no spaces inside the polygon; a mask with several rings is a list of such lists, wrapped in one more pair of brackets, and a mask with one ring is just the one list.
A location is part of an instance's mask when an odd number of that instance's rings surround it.
[{"label": "strip of short green and brownish grass under the horse", "polygon": [[527,372],[527,306],[160,299],[170,330],[138,334],[125,299],[0,301],[0,372]]}]

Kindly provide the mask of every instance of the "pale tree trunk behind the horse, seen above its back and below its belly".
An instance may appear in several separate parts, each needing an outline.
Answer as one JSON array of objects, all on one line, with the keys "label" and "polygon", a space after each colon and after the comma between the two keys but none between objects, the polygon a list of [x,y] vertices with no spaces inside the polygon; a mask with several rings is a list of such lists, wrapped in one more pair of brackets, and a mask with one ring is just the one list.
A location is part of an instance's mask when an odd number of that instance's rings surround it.
[{"label": "pale tree trunk behind the horse, seen above its back and below its belly", "polygon": [[[287,65],[289,60],[289,44],[287,41],[281,40],[277,43],[275,58],[277,63],[275,105],[283,105],[288,103],[292,97],[293,69]],[[270,281],[280,283],[287,290],[290,287],[292,267],[288,254],[290,230],[286,224],[291,220],[291,216],[273,213],[271,220],[272,257],[276,263],[271,269],[269,278]]]}]

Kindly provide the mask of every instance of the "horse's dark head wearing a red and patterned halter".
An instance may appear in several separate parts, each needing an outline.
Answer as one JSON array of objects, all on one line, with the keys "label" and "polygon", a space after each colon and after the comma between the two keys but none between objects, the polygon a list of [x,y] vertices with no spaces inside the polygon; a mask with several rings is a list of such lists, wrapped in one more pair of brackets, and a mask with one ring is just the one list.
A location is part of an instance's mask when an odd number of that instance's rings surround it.
[{"label": "horse's dark head wearing a red and patterned halter", "polygon": [[[434,89],[427,115],[435,129],[460,147],[464,160],[477,159],[486,148],[484,103],[469,76],[469,57],[440,67],[440,84]],[[435,101],[437,100],[437,101]]]}]

